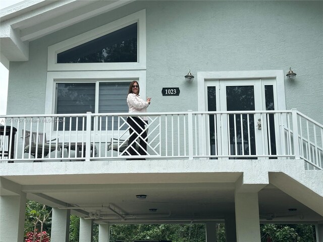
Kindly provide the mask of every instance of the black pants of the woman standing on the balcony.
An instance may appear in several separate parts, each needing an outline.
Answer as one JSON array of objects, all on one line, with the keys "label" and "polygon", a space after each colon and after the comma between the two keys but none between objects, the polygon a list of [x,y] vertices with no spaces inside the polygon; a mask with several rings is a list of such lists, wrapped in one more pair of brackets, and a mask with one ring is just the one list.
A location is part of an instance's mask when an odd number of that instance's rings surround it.
[{"label": "black pants of the woman standing on the balcony", "polygon": [[[132,120],[133,118],[133,120]],[[130,137],[129,137],[129,144],[131,144],[131,142],[133,142],[134,140],[137,140],[139,138],[139,148],[138,148],[138,153],[140,155],[147,155],[147,132],[143,132],[142,131],[145,129],[145,125],[147,124],[144,120],[142,120],[141,118],[138,117],[128,117],[127,118],[127,123],[130,126],[129,129],[129,133],[130,133]],[[134,131],[136,131],[140,136],[138,136],[137,133],[135,133]],[[138,155],[136,150],[136,142],[134,142],[130,147],[128,147],[128,152],[130,153],[130,155]]]}]

